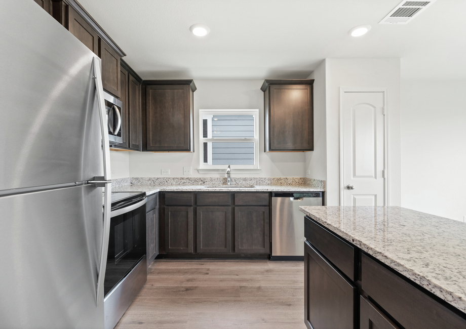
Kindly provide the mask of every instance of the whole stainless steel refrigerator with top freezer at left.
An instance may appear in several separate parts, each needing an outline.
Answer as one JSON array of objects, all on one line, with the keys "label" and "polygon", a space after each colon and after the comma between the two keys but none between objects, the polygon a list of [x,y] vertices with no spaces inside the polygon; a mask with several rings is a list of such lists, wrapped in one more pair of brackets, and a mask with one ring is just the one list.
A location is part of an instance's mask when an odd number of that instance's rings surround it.
[{"label": "whole stainless steel refrigerator with top freezer at left", "polygon": [[0,31],[0,328],[103,328],[100,59],[32,0],[2,0]]}]

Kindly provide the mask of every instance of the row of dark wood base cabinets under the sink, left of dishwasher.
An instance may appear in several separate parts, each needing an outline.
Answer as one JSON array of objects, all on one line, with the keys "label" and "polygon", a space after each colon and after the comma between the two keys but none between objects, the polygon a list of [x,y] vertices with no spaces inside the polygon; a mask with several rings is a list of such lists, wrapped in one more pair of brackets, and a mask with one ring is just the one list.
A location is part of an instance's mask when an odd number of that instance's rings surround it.
[{"label": "row of dark wood base cabinets under the sink, left of dishwasher", "polygon": [[164,199],[161,254],[196,258],[270,254],[269,193],[166,192]]}]

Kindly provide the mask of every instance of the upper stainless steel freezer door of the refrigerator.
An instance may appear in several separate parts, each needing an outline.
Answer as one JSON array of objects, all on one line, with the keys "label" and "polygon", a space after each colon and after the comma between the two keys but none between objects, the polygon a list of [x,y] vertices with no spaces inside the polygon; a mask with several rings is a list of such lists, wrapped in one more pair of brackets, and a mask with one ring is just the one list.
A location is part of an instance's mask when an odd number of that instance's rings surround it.
[{"label": "upper stainless steel freezer door of the refrigerator", "polygon": [[0,191],[103,176],[95,55],[30,0],[0,30]]}]

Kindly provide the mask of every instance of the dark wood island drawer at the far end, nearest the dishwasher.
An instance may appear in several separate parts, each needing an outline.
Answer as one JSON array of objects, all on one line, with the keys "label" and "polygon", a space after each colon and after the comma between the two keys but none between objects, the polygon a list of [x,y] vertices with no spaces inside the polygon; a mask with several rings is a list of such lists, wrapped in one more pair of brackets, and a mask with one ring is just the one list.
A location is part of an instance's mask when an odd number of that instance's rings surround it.
[{"label": "dark wood island drawer at the far end, nearest the dishwasher", "polygon": [[357,281],[354,246],[307,216],[304,219],[304,236],[341,272]]}]

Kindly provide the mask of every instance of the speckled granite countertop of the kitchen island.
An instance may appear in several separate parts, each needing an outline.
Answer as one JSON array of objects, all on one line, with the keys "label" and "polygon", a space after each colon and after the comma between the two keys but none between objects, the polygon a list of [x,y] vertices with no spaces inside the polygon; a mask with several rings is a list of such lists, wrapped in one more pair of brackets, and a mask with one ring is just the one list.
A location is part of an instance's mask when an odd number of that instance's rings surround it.
[{"label": "speckled granite countertop of the kitchen island", "polygon": [[466,224],[401,207],[299,207],[466,313]]}]

